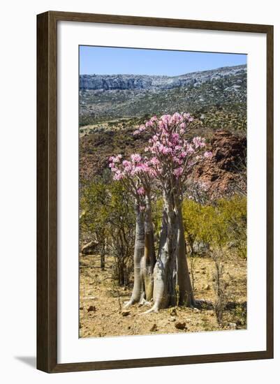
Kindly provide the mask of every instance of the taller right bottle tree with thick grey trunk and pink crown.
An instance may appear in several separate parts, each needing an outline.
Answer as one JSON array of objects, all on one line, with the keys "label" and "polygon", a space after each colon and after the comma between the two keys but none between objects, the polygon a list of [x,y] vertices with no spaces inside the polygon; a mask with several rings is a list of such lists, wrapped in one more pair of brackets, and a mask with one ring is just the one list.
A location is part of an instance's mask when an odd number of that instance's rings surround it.
[{"label": "taller right bottle tree with thick grey trunk and pink crown", "polygon": [[[186,133],[192,121],[189,113],[176,112],[161,118],[154,116],[134,132],[135,135],[144,134],[148,143],[145,147],[145,157],[133,156],[141,158],[142,168],[146,169],[145,174],[156,181],[163,197],[159,254],[153,270],[154,304],[149,311],[159,311],[169,305],[196,305],[186,260],[182,221],[183,189],[193,166],[212,154],[205,152],[205,139],[195,137],[191,141],[186,140]],[[126,163],[123,162],[121,166],[125,168]],[[111,168],[114,170],[115,166]],[[123,170],[115,171],[115,178],[126,179],[125,176]],[[144,184],[143,188],[145,189]],[[143,207],[144,212],[149,205],[140,207]],[[136,218],[137,222],[138,212]],[[149,220],[149,225],[152,227],[152,219]],[[138,246],[137,231],[135,237],[135,246]],[[154,249],[154,246],[152,248]],[[133,302],[135,301],[132,300],[131,304]]]}]

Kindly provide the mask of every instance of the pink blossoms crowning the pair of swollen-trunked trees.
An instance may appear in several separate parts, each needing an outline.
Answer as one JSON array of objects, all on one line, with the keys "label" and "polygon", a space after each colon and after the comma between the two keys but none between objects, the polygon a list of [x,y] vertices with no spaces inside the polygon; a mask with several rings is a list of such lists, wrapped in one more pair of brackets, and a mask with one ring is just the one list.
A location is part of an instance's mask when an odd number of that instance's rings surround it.
[{"label": "pink blossoms crowning the pair of swollen-trunked trees", "polygon": [[[191,142],[184,135],[189,129],[193,117],[189,113],[175,112],[173,115],[154,116],[142,124],[133,134],[143,131],[150,135],[149,145],[145,147],[147,156],[132,154],[129,160],[121,162],[121,155],[110,157],[110,168],[114,179],[124,177],[175,177],[179,179],[189,172],[189,169],[201,161],[201,150],[205,147],[205,139],[197,136]],[[211,152],[205,152],[204,158],[211,157]],[[141,188],[138,195],[145,193]]]}]

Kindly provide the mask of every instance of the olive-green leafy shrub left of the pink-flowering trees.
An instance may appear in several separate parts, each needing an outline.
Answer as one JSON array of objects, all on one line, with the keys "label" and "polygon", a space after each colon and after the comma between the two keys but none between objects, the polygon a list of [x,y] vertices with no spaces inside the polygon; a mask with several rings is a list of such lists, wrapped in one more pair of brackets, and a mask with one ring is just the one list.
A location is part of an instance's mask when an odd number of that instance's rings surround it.
[{"label": "olive-green leafy shrub left of the pink-flowering trees", "polygon": [[80,193],[80,235],[98,242],[115,258],[113,276],[128,283],[133,258],[135,217],[128,192],[120,182],[84,182]]}]

